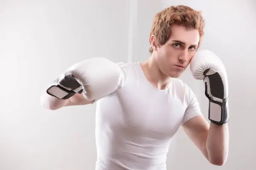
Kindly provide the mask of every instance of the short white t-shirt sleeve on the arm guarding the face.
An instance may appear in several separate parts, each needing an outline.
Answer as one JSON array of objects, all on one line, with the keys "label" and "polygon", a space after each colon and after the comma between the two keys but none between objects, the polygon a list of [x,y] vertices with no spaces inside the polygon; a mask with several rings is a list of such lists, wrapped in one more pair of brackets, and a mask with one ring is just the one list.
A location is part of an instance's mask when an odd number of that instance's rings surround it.
[{"label": "short white t-shirt sleeve on the arm guarding the face", "polygon": [[195,116],[202,115],[198,99],[196,98],[194,92],[189,87],[187,87],[186,96],[187,96],[188,106],[184,113],[184,117],[181,122],[181,125],[183,125],[186,121],[188,121],[189,119],[192,119]]}]

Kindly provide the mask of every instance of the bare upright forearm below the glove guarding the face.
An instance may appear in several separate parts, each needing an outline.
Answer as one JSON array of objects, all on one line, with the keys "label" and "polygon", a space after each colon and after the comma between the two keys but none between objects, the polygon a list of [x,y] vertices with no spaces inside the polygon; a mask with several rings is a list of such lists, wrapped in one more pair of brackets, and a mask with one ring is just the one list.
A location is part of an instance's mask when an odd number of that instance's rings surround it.
[{"label": "bare upright forearm below the glove guarding the face", "polygon": [[210,123],[206,148],[208,160],[212,164],[222,165],[227,160],[229,147],[228,125]]}]

